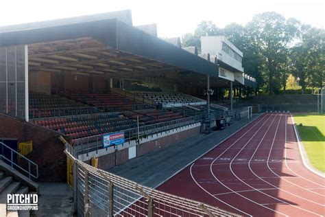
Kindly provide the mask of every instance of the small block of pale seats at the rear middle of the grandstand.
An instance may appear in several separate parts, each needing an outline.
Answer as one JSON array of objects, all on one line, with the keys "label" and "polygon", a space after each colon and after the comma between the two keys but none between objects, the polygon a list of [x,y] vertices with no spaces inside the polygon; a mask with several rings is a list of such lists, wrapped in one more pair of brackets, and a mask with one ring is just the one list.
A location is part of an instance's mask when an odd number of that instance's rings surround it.
[{"label": "small block of pale seats at the rear middle of the grandstand", "polygon": [[138,93],[138,95],[145,99],[152,100],[156,104],[189,104],[191,102],[200,102],[195,98],[181,93]]}]

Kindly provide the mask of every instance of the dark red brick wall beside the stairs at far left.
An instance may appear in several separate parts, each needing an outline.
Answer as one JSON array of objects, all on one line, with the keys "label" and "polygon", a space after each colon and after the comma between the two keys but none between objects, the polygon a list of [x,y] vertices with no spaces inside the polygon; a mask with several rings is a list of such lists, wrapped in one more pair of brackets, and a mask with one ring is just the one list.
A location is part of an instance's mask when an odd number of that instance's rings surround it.
[{"label": "dark red brick wall beside the stairs at far left", "polygon": [[67,157],[59,136],[53,130],[0,114],[0,137],[18,138],[19,143],[33,141],[27,158],[38,164],[39,181],[67,180]]}]

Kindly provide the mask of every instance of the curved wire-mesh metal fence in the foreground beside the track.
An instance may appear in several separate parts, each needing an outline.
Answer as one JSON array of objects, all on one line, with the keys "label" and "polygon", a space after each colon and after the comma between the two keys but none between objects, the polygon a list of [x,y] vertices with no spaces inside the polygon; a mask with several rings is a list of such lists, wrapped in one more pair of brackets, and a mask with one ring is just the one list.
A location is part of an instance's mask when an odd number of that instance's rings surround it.
[{"label": "curved wire-mesh metal fence in the foreground beside the track", "polygon": [[73,198],[77,216],[238,216],[139,185],[121,176],[73,159]]}]

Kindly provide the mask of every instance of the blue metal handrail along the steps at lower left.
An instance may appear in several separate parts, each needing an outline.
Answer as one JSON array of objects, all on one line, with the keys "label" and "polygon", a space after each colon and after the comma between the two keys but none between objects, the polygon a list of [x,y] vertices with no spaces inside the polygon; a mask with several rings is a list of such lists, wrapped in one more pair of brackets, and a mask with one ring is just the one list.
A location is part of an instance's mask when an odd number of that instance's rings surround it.
[{"label": "blue metal handrail along the steps at lower left", "polygon": [[[37,179],[38,178],[38,165],[36,163],[27,159],[27,157],[21,155],[19,152],[16,152],[16,150],[13,150],[12,148],[3,144],[2,142],[0,142],[0,146],[1,146],[1,149],[0,149],[1,150],[1,153],[0,153],[1,159],[3,159],[5,161],[5,163],[8,163],[12,169],[17,169],[17,170],[19,170],[19,172],[23,172],[23,173],[27,174],[29,179],[32,179],[32,178]],[[20,161],[23,159],[25,162],[18,163],[19,159],[20,159]],[[15,163],[15,161],[17,163]],[[23,165],[27,165],[27,169],[23,168]],[[31,165],[34,168],[32,168]]]}]

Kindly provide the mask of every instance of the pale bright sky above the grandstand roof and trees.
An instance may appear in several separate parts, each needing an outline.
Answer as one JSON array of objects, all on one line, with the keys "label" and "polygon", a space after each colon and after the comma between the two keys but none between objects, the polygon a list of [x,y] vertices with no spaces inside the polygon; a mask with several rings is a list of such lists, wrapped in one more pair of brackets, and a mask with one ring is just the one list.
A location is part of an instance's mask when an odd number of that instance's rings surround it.
[{"label": "pale bright sky above the grandstand roof and trees", "polygon": [[313,27],[324,28],[324,0],[0,0],[0,26],[132,10],[133,25],[156,23],[159,37],[193,33],[201,21],[218,27],[245,25],[254,14],[278,12]]}]

